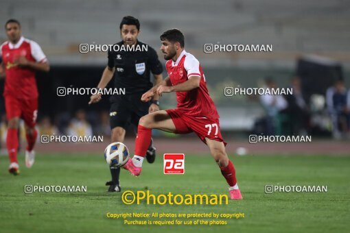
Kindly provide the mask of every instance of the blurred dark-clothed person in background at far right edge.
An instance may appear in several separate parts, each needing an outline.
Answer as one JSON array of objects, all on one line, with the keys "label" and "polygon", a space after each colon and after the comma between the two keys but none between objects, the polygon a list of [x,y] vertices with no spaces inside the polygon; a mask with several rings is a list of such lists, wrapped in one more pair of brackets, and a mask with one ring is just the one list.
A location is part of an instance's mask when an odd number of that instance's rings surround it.
[{"label": "blurred dark-clothed person in background at far right edge", "polygon": [[334,86],[327,89],[327,110],[333,123],[334,138],[341,138],[342,133],[347,134],[350,126],[350,108],[344,80],[338,79]]}]

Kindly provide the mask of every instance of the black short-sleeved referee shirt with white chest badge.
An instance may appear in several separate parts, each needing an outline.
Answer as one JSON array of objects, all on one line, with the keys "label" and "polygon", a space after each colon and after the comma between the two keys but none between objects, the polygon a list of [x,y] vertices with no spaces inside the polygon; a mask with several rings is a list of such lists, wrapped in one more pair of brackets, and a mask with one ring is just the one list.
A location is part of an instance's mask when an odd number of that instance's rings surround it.
[{"label": "black short-sleeved referee shirt with white chest badge", "polygon": [[[163,66],[159,62],[156,51],[137,40],[136,51],[124,51],[124,42],[118,42],[119,51],[108,51],[108,66],[115,67],[115,88],[125,88],[126,95],[145,93],[152,88],[150,73],[159,75]],[[147,49],[143,49],[147,46]],[[126,46],[124,47],[126,48]],[[137,50],[136,48],[141,48]]]}]

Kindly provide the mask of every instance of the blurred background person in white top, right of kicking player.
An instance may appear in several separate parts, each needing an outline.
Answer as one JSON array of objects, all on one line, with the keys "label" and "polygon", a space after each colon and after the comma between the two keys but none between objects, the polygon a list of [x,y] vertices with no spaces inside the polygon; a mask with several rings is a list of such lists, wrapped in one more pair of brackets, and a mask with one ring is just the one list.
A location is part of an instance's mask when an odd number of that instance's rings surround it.
[{"label": "blurred background person in white top, right of kicking player", "polygon": [[[266,88],[270,90],[277,88],[272,78],[266,78],[265,82]],[[266,134],[282,134],[281,125],[283,123],[283,114],[280,114],[280,112],[288,107],[287,101],[282,95],[260,95],[260,102],[267,113]]]}]

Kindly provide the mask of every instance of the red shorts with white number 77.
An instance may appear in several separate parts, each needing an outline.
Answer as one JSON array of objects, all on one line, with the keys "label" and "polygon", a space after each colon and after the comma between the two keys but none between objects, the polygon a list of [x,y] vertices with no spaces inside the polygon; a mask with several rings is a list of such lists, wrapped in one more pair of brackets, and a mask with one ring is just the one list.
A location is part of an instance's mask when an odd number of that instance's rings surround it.
[{"label": "red shorts with white number 77", "polygon": [[224,142],[220,132],[219,119],[208,119],[204,116],[189,116],[178,109],[165,110],[172,118],[176,127],[176,134],[189,134],[195,132],[203,143],[207,144],[205,138]]}]

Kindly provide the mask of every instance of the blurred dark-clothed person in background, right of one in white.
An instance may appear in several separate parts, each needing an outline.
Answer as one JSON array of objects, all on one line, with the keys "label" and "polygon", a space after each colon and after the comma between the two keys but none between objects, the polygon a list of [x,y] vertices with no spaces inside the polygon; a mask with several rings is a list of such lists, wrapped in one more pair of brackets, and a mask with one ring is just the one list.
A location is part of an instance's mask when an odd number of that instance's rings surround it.
[{"label": "blurred dark-clothed person in background, right of one in white", "polygon": [[306,135],[310,132],[310,112],[301,93],[300,77],[292,77],[292,95],[285,95],[288,108],[285,113],[289,115],[293,135]]}]

